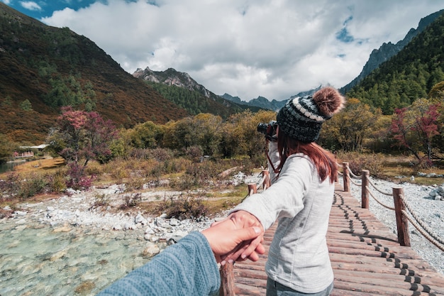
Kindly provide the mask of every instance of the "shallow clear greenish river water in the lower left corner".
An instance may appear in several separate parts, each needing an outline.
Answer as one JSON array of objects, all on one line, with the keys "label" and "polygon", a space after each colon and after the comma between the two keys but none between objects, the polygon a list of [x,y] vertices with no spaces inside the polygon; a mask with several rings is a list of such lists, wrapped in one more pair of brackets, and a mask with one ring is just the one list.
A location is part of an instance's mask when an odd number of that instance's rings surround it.
[{"label": "shallow clear greenish river water in the lower left corner", "polygon": [[0,295],[95,295],[148,262],[136,231],[0,221]]}]

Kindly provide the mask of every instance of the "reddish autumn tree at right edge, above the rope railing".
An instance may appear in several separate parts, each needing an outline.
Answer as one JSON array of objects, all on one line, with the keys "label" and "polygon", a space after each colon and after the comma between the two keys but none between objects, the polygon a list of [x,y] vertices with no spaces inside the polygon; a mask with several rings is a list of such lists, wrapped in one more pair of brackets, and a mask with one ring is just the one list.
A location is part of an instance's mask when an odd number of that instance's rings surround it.
[{"label": "reddish autumn tree at right edge, above the rope railing", "polygon": [[418,161],[426,158],[428,165],[441,158],[433,145],[433,138],[440,134],[439,103],[418,99],[409,107],[396,109],[390,131],[396,144],[409,150]]}]

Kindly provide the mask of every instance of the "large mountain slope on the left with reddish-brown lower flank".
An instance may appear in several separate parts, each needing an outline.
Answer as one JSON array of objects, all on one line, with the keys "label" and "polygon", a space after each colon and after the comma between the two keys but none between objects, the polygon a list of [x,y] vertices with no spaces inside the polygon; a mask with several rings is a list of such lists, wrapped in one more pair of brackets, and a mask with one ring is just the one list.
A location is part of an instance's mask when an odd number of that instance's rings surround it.
[{"label": "large mountain slope on the left with reddish-brown lower flank", "polygon": [[189,116],[93,41],[0,2],[0,133],[41,143],[65,105],[97,111],[125,128]]}]

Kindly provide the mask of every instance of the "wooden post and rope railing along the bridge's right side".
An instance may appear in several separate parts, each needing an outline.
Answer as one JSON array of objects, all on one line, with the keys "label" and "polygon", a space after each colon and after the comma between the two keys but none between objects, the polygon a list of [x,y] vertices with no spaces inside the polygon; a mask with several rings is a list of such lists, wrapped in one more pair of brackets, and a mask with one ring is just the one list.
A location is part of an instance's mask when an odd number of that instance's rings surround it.
[{"label": "wooden post and rope railing along the bridge's right side", "polygon": [[[392,193],[384,192],[379,190],[376,185],[373,184],[369,180],[370,173],[367,170],[362,170],[361,175],[361,184],[357,184],[351,180],[350,175],[353,177],[357,177],[351,172],[348,167],[348,163],[343,163],[343,182],[344,182],[344,191],[350,191],[350,183],[353,185],[361,186],[362,192],[362,208],[368,209],[368,196],[370,195],[374,201],[380,204],[382,207],[393,210],[396,214],[396,227],[398,230],[398,241],[401,246],[410,246],[410,238],[409,238],[409,227],[407,221],[409,221],[415,228],[426,238],[428,241],[433,243],[433,245],[437,246],[441,251],[444,251],[444,239],[440,238],[437,234],[435,234],[421,219],[418,218],[418,215],[414,212],[414,209],[411,205],[406,201],[404,197],[404,190],[402,188],[392,188]],[[387,206],[381,202],[374,194],[370,191],[370,186],[377,192],[391,196],[394,198],[394,207]],[[348,190],[345,190],[345,189]],[[410,213],[407,212],[407,211]]]}]

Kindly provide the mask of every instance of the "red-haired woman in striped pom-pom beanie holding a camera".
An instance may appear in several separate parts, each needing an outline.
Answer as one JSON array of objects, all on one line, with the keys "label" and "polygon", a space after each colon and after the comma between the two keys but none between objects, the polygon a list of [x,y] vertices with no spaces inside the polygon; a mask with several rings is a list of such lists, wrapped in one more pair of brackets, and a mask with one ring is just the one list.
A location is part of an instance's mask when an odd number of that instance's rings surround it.
[{"label": "red-haired woman in striped pom-pom beanie holding a camera", "polygon": [[[333,289],[326,232],[338,171],[333,155],[315,141],[323,122],[344,104],[333,87],[289,100],[277,114],[277,135],[269,141],[272,185],[228,216],[263,229],[278,221],[265,265],[269,296],[329,295]],[[255,241],[248,250],[254,248]],[[243,251],[242,258],[250,251]],[[237,255],[225,260],[231,262]]]}]

